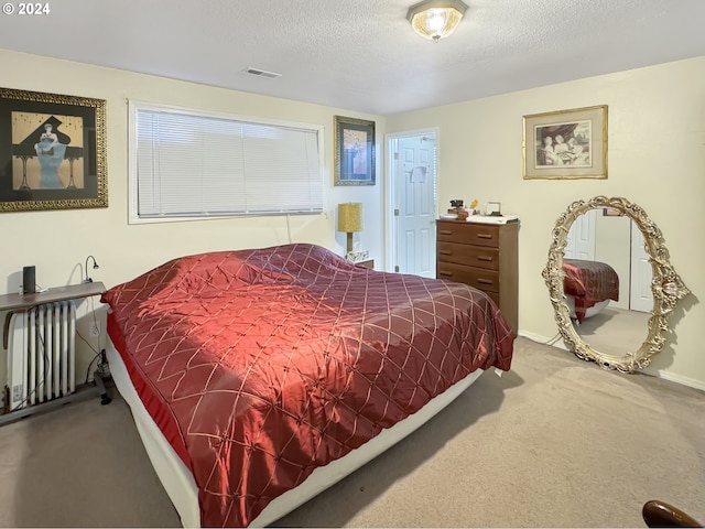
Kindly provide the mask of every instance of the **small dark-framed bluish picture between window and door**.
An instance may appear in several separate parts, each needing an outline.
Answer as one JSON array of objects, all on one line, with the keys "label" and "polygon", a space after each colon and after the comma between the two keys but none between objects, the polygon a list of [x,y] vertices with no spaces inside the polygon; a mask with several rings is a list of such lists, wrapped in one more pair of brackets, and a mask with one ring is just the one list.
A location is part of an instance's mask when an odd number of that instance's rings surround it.
[{"label": "small dark-framed bluish picture between window and door", "polygon": [[335,117],[335,185],[375,185],[375,121]]}]

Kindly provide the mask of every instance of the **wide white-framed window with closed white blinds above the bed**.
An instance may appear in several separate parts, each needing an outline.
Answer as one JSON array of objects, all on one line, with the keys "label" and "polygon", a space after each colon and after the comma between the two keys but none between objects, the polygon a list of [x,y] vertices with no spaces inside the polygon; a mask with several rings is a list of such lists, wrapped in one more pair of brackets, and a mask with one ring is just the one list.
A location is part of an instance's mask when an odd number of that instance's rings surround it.
[{"label": "wide white-framed window with closed white blinds above the bed", "polygon": [[130,223],[323,212],[323,127],[130,101]]}]

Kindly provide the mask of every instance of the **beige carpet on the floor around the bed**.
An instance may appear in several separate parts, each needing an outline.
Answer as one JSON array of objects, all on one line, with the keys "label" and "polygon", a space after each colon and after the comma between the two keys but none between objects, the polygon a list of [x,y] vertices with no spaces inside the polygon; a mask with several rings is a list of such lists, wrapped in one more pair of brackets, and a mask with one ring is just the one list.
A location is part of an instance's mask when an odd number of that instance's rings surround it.
[{"label": "beige carpet on the floor around the bed", "polygon": [[[705,395],[519,338],[440,415],[276,525],[644,527],[651,498],[705,519]],[[174,527],[120,399],[0,428],[0,526]]]}]

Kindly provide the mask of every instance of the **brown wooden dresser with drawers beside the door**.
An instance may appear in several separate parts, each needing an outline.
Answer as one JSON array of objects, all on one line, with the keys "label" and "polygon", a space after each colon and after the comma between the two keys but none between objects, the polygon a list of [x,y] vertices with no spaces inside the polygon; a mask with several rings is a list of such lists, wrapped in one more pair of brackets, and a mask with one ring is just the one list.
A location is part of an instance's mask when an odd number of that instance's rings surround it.
[{"label": "brown wooden dresser with drawers beside the door", "polygon": [[466,283],[495,300],[519,326],[519,220],[480,224],[436,220],[436,278]]}]

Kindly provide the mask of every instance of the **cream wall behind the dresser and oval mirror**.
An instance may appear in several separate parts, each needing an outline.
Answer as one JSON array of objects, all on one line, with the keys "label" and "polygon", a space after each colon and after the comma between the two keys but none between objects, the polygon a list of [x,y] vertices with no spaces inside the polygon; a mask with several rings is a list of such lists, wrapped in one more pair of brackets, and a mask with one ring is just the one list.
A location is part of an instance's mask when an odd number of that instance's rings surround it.
[{"label": "cream wall behind the dresser and oval mirror", "polygon": [[[609,107],[608,180],[522,180],[522,117],[595,105]],[[440,128],[441,209],[454,197],[499,201],[521,218],[520,334],[556,334],[541,271],[568,204],[607,195],[643,207],[693,292],[649,369],[705,389],[705,57],[387,118],[388,133],[426,127]]]}]

